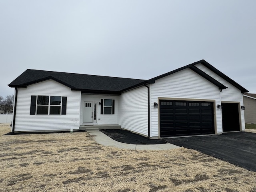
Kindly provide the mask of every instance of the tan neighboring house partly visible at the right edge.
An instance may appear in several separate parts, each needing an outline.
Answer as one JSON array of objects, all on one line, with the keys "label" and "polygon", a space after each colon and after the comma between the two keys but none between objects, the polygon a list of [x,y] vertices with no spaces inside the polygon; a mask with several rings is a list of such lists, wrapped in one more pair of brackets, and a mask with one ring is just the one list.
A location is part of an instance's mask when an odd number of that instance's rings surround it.
[{"label": "tan neighboring house partly visible at the right edge", "polygon": [[244,119],[246,123],[256,124],[256,94],[244,94]]}]

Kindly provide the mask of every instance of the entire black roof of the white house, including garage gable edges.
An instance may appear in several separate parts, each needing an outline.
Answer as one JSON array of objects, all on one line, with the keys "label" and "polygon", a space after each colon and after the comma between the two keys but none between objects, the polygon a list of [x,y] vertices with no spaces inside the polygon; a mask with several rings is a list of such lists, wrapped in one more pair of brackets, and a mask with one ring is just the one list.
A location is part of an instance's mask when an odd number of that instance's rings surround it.
[{"label": "entire black roof of the white house, including garage gable edges", "polygon": [[196,64],[203,64],[208,69],[212,70],[218,76],[222,77],[224,80],[241,90],[242,93],[248,92],[245,88],[240,86],[234,80],[214,68],[205,60],[200,60],[198,62],[194,62],[187,66],[178,68],[171,72],[162,74],[150,80],[142,80],[142,79],[130,79],[130,78],[119,78],[119,77],[107,77],[107,76],[97,76],[97,75],[85,75],[85,74],[76,74],[76,73],[64,73],[64,72],[53,72],[53,71],[42,71],[42,70],[31,70],[27,69],[20,76],[18,76],[13,82],[11,82],[8,86],[10,87],[27,87],[28,85],[41,82],[44,80],[52,79],[60,82],[72,90],[81,90],[86,93],[102,93],[102,94],[121,94],[125,90],[129,90],[131,88],[136,88],[138,86],[143,86],[143,84],[154,83],[155,80],[163,78],[165,76],[174,74],[186,68],[189,68],[204,77],[206,80],[210,81],[212,84],[218,86],[220,90],[226,89],[227,87],[199,68],[197,68]]}]

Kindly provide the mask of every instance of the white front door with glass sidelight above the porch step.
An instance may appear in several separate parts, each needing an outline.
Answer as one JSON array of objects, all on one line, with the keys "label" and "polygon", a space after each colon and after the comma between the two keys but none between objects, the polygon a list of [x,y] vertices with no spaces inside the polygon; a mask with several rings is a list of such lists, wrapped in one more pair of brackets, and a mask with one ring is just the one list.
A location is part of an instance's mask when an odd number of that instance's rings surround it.
[{"label": "white front door with glass sidelight above the porch step", "polygon": [[97,122],[97,102],[84,102],[83,123]]}]

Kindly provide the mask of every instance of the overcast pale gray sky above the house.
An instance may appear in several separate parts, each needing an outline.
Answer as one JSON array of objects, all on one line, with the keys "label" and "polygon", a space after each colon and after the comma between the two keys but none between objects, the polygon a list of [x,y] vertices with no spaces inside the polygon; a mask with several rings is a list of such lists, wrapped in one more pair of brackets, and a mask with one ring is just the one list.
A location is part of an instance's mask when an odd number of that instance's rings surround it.
[{"label": "overcast pale gray sky above the house", "polygon": [[149,79],[204,59],[256,93],[256,0],[0,0],[0,96],[26,69]]}]

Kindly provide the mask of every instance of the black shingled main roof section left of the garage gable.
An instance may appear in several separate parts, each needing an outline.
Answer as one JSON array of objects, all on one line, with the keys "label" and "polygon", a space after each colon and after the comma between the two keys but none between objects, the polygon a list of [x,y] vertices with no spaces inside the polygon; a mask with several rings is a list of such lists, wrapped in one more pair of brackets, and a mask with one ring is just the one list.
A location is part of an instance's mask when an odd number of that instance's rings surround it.
[{"label": "black shingled main roof section left of the garage gable", "polygon": [[10,87],[26,87],[36,82],[53,79],[72,90],[100,90],[106,92],[120,92],[121,90],[139,84],[146,80],[85,75],[27,69],[9,84]]}]

